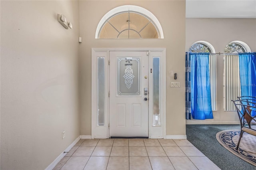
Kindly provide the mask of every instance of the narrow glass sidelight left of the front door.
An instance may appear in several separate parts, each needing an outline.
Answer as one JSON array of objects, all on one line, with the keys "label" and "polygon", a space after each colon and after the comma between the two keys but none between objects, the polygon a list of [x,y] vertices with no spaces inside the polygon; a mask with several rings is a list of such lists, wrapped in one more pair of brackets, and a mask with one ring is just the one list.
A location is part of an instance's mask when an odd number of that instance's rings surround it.
[{"label": "narrow glass sidelight left of the front door", "polygon": [[97,125],[104,126],[105,121],[105,58],[98,57],[97,58]]}]

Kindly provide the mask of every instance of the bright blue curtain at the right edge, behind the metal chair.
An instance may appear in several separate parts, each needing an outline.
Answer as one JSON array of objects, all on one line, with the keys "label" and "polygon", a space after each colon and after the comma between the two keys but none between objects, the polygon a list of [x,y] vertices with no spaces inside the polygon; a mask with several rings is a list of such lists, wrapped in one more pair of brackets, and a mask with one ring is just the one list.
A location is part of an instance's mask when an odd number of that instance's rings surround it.
[{"label": "bright blue curtain at the right edge, behind the metal chair", "polygon": [[[241,96],[256,97],[256,53],[239,53]],[[256,115],[252,111],[252,116]]]}]

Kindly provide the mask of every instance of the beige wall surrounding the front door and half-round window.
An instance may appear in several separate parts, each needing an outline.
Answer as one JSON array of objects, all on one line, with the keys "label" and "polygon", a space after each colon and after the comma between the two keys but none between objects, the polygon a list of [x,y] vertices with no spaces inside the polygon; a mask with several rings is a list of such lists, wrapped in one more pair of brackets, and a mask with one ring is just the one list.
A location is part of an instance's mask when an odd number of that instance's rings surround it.
[{"label": "beige wall surrounding the front door and half-round window", "polygon": [[[95,39],[100,19],[110,10],[122,5],[146,8],[158,18],[164,39],[111,40]],[[81,134],[91,134],[91,48],[166,48],[166,133],[185,135],[185,1],[80,1],[79,80]],[[178,78],[174,80],[174,73]],[[171,82],[180,88],[170,88]]]}]

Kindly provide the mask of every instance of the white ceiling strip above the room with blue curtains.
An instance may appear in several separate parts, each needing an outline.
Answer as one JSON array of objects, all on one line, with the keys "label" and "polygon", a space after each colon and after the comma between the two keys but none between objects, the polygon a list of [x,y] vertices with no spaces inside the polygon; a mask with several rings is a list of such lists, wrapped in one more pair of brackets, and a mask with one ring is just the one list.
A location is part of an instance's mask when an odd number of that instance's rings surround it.
[{"label": "white ceiling strip above the room with blue curtains", "polygon": [[186,18],[256,18],[256,0],[186,0]]}]

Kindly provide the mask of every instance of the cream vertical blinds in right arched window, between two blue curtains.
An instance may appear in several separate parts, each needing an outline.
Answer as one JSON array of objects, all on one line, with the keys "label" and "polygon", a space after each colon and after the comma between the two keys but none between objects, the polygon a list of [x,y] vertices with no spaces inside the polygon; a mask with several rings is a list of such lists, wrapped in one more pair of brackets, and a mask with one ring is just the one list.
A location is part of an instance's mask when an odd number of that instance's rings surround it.
[{"label": "cream vertical blinds in right arched window, between two blue curtains", "polygon": [[224,110],[235,111],[231,100],[241,96],[238,54],[224,55]]}]

